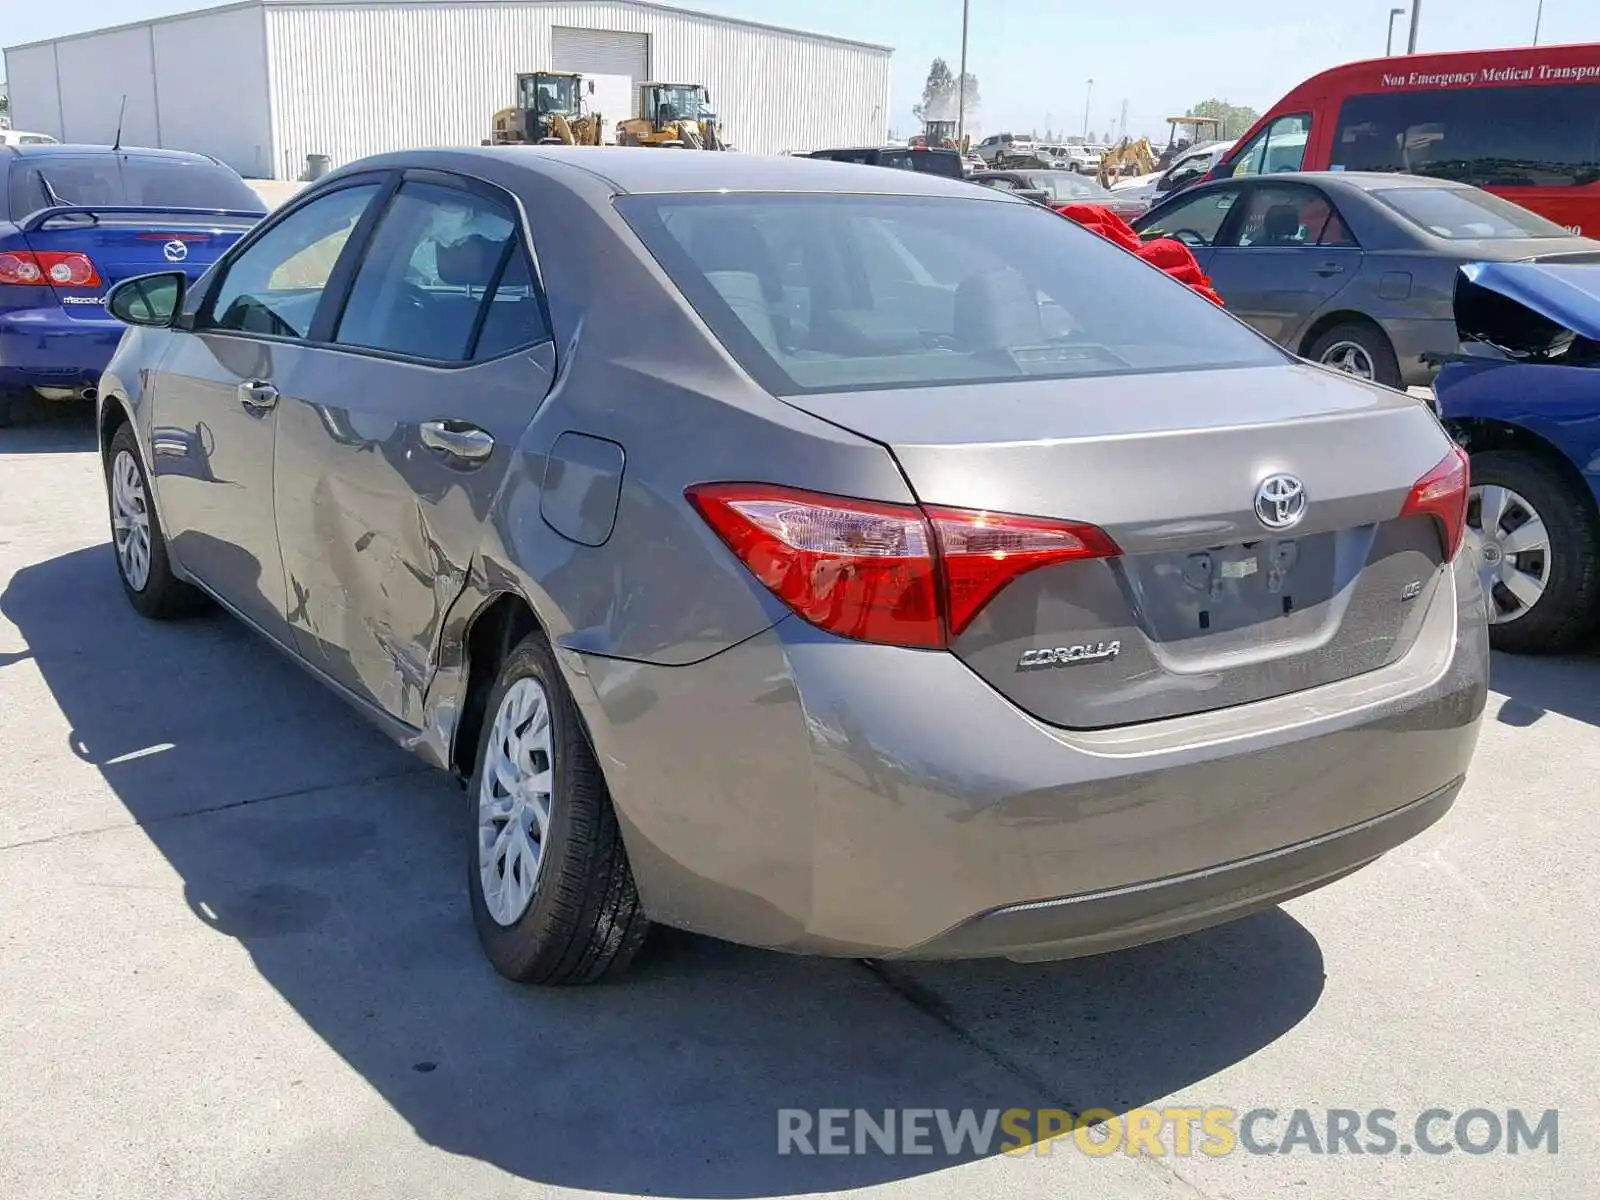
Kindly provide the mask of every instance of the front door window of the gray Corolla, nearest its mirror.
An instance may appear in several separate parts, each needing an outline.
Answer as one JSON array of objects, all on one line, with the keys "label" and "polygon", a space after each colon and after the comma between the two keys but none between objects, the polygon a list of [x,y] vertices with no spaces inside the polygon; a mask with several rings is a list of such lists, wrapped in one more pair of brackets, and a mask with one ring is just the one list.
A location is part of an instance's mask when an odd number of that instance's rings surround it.
[{"label": "front door window of the gray Corolla, nearest its mirror", "polygon": [[341,187],[275,222],[229,262],[198,326],[307,338],[344,243],[378,190]]}]

